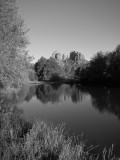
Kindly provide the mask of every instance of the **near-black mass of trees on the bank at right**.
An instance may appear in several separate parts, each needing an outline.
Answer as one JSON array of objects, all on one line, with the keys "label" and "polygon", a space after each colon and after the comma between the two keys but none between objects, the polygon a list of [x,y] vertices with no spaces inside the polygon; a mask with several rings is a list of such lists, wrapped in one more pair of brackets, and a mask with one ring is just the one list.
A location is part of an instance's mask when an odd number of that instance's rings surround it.
[{"label": "near-black mass of trees on the bank at right", "polygon": [[98,52],[76,75],[81,83],[120,84],[119,45],[112,52]]}]

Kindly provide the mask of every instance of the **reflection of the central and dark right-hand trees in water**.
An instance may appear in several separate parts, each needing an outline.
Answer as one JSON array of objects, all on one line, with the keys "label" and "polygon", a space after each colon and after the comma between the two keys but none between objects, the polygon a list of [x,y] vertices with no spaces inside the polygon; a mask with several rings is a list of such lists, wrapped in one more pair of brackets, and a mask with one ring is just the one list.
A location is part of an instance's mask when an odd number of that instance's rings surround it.
[{"label": "reflection of the central and dark right-hand trees in water", "polygon": [[36,97],[44,104],[66,101],[68,98],[73,103],[79,103],[86,95],[90,95],[92,106],[100,113],[109,112],[120,118],[120,88],[45,84],[36,90]]}]

